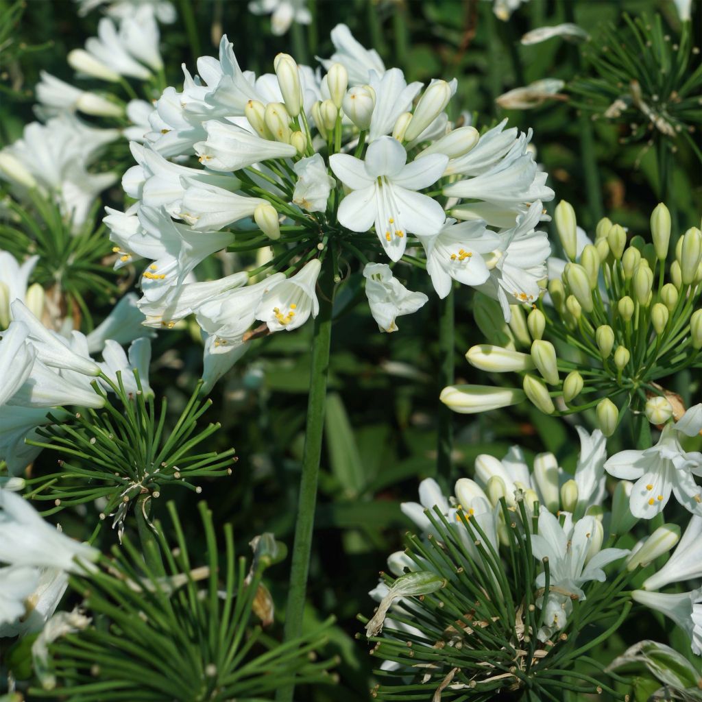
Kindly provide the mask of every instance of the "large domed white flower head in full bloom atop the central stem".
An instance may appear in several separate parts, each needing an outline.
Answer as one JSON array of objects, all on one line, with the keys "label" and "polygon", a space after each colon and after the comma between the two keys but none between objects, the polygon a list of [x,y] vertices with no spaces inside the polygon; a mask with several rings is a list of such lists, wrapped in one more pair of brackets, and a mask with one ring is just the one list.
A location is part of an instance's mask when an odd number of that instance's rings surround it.
[{"label": "large domed white flower head in full bloom atop the central stem", "polygon": [[[184,68],[182,91],[166,88],[145,142],[132,144],[137,165],[122,185],[136,202],[105,220],[117,266],[144,260],[148,324],[195,315],[206,385],[241,356],[255,322],[260,334],[314,317],[317,276],[341,256],[367,265],[384,331],[426,301],[393,277],[400,261],[425,268],[442,298],[453,281],[486,291],[505,317],[542,292],[550,246],[536,227],[553,192],[531,133],[452,123],[455,80],[407,84],[345,25],[331,39],[326,74],[279,54],[275,72],[256,77],[223,37],[218,60],[200,58],[194,77]],[[269,247],[248,274],[191,275],[223,249]],[[373,263],[378,254],[390,265]]]}]

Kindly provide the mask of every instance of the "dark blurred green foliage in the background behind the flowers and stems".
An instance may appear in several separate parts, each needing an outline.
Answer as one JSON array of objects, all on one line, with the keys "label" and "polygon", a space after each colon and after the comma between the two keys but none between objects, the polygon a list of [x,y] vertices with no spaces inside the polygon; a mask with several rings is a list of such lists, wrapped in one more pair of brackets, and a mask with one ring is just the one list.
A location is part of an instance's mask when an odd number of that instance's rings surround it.
[{"label": "dark blurred green foliage in the background behind the flowers and stems", "polygon": [[[696,1],[696,0],[694,0]],[[597,221],[607,214],[629,227],[631,234],[649,237],[648,220],[658,202],[661,182],[656,148],[646,140],[628,141],[630,124],[592,119],[574,105],[569,84],[576,77],[595,77],[588,54],[600,55],[612,37],[625,37],[622,13],[634,18],[660,13],[664,41],[676,44],[680,20],[668,0],[531,0],[508,22],[492,12],[491,3],[478,0],[311,0],[314,21],[307,27],[293,25],[284,37],[272,37],[270,18],[251,14],[244,1],[174,0],[179,13],[173,25],[161,25],[161,51],[169,85],[180,86],[180,64],[194,72],[199,55],[216,55],[220,34],[227,33],[241,66],[257,74],[272,70],[279,51],[293,53],[300,62],[314,65],[314,56],[333,52],[329,32],[338,22],[350,26],[355,37],[376,48],[386,65],[404,69],[409,80],[432,77],[458,79],[452,105],[472,115],[473,124],[484,128],[508,118],[511,125],[534,129],[532,144],[539,163],[550,173],[549,184],[556,200],[574,205],[580,223],[594,235]],[[699,10],[699,8],[697,8]],[[699,12],[693,20],[699,19]],[[0,145],[20,137],[34,119],[33,86],[41,69],[72,81],[65,62],[68,51],[83,45],[95,34],[99,12],[79,18],[68,0],[29,0],[20,5],[0,0]],[[590,35],[585,44],[550,39],[522,46],[525,32],[545,25],[576,22]],[[614,26],[614,32],[611,30]],[[700,26],[693,21],[691,46],[700,45]],[[671,44],[672,46],[672,44]],[[634,51],[633,46],[625,50]],[[699,71],[699,54],[690,55],[690,72]],[[495,98],[511,88],[545,78],[562,79],[564,90],[532,110],[503,110]],[[612,78],[614,81],[614,77]],[[81,81],[88,88],[90,81]],[[578,103],[583,96],[577,95]],[[699,121],[700,110],[691,115]],[[454,114],[453,117],[458,117]],[[698,133],[691,138],[699,144]],[[698,225],[702,201],[701,165],[694,150],[682,138],[667,140],[672,149],[672,183],[668,206],[677,213],[678,232]],[[107,166],[130,165],[126,145],[108,152]],[[121,166],[119,165],[121,164]],[[119,184],[108,191],[103,204],[121,206]],[[556,238],[552,239],[554,247]],[[557,251],[556,251],[557,253]],[[221,257],[223,270],[249,265],[253,260],[233,254]],[[197,274],[208,277],[207,265]],[[214,271],[212,271],[214,273]],[[416,270],[403,271],[407,285],[424,290],[428,281]],[[115,277],[105,270],[105,280]],[[133,278],[121,277],[124,291]],[[362,276],[349,270],[335,305],[330,396],[326,414],[326,449],[310,571],[307,616],[310,623],[333,614],[337,625],[330,634],[329,651],[339,654],[339,684],[333,688],[300,689],[298,698],[310,702],[364,700],[371,687],[373,661],[364,644],[353,637],[361,630],[355,617],[373,609],[367,595],[377,583],[390,552],[402,548],[402,533],[411,526],[402,515],[402,501],[416,501],[420,479],[435,475],[436,423],[439,388],[437,368],[441,361],[437,343],[438,300],[411,317],[400,320],[392,335],[378,333],[365,304]],[[486,383],[480,371],[463,359],[468,347],[481,343],[482,333],[471,312],[472,293],[456,291],[456,382]],[[117,297],[113,298],[117,299]],[[97,322],[107,312],[103,300],[88,300]],[[102,304],[102,307],[100,305]],[[296,494],[303,448],[312,325],[294,334],[275,334],[256,340],[234,370],[213,390],[213,407],[206,418],[219,420],[223,428],[211,438],[213,448],[237,449],[239,463],[232,477],[202,483],[202,494],[173,491],[164,495],[178,505],[189,543],[197,549],[204,536],[199,531],[196,503],[204,498],[215,524],[231,522],[237,550],[263,531],[291,545],[296,519]],[[183,326],[160,333],[154,340],[152,387],[166,395],[173,416],[183,409],[201,373],[201,343],[197,326]],[[680,378],[675,388],[686,404],[700,400],[700,378]],[[555,453],[566,470],[574,470],[578,442],[566,420],[550,418],[522,404],[487,415],[454,416],[455,477],[471,476],[479,453],[502,457],[510,445],[524,446],[527,456],[541,451]],[[571,423],[576,420],[570,418]],[[588,416],[578,423],[594,428]],[[610,453],[623,447],[626,437],[610,441]],[[622,444],[622,445],[618,445]],[[55,460],[45,452],[34,472],[51,470]],[[446,489],[449,486],[444,486]],[[87,538],[98,508],[86,512],[65,510],[62,526],[77,537]],[[187,515],[193,515],[187,519]],[[674,515],[672,515],[674,516]],[[98,544],[108,548],[116,540],[107,527]],[[280,628],[283,619],[288,564],[267,573],[267,585],[277,606]],[[665,640],[661,621],[642,619],[621,636],[612,637],[598,652],[610,661],[628,645],[642,639]],[[592,634],[593,636],[596,633]],[[675,640],[673,640],[675,646]],[[689,647],[680,645],[680,650]]]}]

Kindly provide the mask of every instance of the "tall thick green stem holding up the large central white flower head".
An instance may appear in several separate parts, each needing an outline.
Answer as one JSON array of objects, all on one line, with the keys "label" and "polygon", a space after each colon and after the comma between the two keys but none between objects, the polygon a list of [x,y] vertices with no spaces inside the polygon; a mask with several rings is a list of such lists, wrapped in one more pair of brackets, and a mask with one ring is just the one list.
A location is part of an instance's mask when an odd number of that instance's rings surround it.
[{"label": "tall thick green stem holding up the large central white flower head", "polygon": [[[319,314],[314,321],[314,338],[312,339],[312,369],[310,371],[310,397],[307,400],[305,449],[303,451],[295,545],[293,545],[285,617],[286,641],[298,637],[303,629],[307,574],[310,569],[312,528],[314,527],[314,508],[317,505],[319,458],[322,456],[322,436],[324,435],[324,407],[326,405],[326,380],[329,375],[333,295],[333,265],[331,259],[327,259],[322,264],[322,274],[319,278]],[[294,691],[294,685],[289,684],[279,690],[277,699],[282,702],[291,702]]]}]

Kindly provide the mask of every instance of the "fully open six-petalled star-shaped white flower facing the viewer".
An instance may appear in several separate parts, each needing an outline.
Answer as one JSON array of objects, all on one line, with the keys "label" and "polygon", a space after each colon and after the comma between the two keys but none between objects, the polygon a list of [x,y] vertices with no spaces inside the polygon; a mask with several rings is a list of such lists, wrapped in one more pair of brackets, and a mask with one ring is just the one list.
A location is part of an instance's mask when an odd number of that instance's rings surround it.
[{"label": "fully open six-petalled star-shaped white flower facing the viewer", "polygon": [[407,152],[392,137],[380,137],[361,161],[348,154],[334,154],[329,163],[334,174],[353,192],[341,201],[338,220],[352,232],[366,232],[375,225],[385,253],[397,261],[407,244],[406,234],[437,234],[446,220],[442,206],[416,192],[441,178],[448,163],[443,154],[431,154],[406,164]]}]

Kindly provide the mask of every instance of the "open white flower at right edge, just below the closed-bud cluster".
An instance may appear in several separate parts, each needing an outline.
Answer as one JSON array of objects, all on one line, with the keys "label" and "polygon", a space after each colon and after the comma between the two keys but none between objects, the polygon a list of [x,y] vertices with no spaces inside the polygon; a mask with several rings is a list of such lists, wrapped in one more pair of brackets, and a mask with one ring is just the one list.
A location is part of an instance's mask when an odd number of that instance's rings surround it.
[{"label": "open white flower at right edge, just below the closed-bud cluster", "polygon": [[702,453],[684,451],[678,438],[678,432],[691,437],[701,429],[702,404],[697,404],[676,423],[665,425],[656,446],[621,451],[604,464],[610,475],[636,480],[630,498],[635,517],[655,517],[665,508],[671,492],[687,510],[702,515],[702,488],[694,480],[694,475],[702,475]]}]

